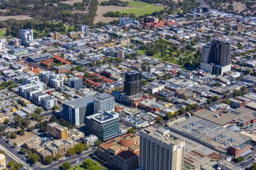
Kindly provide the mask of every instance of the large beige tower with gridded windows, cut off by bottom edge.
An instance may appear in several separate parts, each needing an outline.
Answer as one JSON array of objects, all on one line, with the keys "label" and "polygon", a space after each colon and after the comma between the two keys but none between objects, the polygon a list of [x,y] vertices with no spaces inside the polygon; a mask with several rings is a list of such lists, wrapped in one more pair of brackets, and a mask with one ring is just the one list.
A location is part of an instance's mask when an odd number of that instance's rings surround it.
[{"label": "large beige tower with gridded windows, cut off by bottom edge", "polygon": [[152,126],[140,131],[139,167],[143,170],[182,170],[185,141],[170,137],[170,131]]}]

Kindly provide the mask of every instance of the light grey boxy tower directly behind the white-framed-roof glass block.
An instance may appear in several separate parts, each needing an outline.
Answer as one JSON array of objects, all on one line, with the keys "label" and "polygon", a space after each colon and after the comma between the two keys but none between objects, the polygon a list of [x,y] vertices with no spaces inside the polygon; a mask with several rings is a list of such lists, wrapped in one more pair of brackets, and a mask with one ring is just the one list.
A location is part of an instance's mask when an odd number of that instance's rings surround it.
[{"label": "light grey boxy tower directly behind the white-framed-roof glass block", "polygon": [[115,97],[109,94],[100,94],[94,98],[94,113],[112,111],[115,107]]}]

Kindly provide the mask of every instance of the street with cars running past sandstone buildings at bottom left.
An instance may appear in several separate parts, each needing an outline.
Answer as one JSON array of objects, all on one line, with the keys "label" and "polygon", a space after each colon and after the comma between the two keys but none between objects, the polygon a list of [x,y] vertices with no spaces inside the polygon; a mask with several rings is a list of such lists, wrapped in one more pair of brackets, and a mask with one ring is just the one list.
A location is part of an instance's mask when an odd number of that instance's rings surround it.
[{"label": "street with cars running past sandstone buildings at bottom left", "polygon": [[[96,149],[84,151],[82,152],[82,154],[72,156],[71,158],[67,158],[62,162],[56,162],[46,167],[32,167],[31,169],[34,169],[34,170],[59,169],[64,162],[69,162],[71,163],[72,167],[74,167],[75,165],[81,164],[85,159],[91,158],[90,154],[92,154],[94,151],[96,151]],[[79,160],[79,162],[77,162],[77,160]]]}]

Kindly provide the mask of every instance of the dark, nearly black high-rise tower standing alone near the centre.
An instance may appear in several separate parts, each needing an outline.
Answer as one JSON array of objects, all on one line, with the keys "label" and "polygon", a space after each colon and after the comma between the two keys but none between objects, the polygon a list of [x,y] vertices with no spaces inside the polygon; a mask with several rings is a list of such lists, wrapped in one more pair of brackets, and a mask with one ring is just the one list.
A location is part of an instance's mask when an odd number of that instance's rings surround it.
[{"label": "dark, nearly black high-rise tower standing alone near the centre", "polygon": [[133,70],[125,73],[125,94],[127,96],[134,96],[141,93],[141,71]]}]

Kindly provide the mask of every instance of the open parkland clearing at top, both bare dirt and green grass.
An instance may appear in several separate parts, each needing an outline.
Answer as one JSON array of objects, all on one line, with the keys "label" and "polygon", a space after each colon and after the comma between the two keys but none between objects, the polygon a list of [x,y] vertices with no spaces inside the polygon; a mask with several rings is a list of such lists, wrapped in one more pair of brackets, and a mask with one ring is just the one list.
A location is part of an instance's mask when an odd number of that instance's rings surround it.
[{"label": "open parkland clearing at top, both bare dirt and green grass", "polygon": [[[99,3],[104,0],[98,1]],[[141,1],[128,1],[129,4],[127,7],[122,6],[98,6],[97,14],[94,18],[94,23],[104,22],[108,23],[118,18],[112,17],[104,17],[103,14],[109,11],[119,11],[121,13],[134,13],[136,16],[144,15],[144,14],[151,14],[155,11],[160,11],[163,9],[161,6],[155,6],[153,4],[141,2]]]}]

